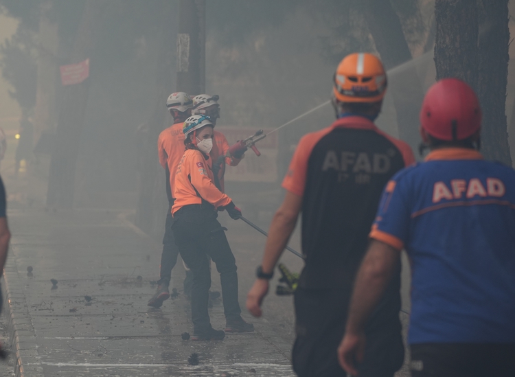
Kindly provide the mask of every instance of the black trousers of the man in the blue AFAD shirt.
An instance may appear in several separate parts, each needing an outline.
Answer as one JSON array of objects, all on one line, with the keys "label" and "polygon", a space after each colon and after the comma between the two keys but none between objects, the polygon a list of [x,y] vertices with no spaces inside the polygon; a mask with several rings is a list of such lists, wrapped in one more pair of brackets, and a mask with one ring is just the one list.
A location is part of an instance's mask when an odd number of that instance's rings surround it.
[{"label": "black trousers of the man in the blue AFAD shirt", "polygon": [[513,377],[515,343],[413,344],[413,377]]}]

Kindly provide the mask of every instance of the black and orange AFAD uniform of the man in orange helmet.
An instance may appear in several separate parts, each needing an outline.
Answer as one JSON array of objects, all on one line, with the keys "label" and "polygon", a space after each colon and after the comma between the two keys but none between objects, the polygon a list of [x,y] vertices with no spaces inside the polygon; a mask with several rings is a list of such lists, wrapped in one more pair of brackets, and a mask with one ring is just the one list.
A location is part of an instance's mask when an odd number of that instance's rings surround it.
[{"label": "black and orange AFAD uniform of the man in orange helmet", "polygon": [[[369,229],[383,187],[413,162],[407,144],[360,116],[344,116],[299,141],[283,181],[283,187],[303,201],[306,265],[295,292],[293,347],[293,368],[299,376],[346,376],[336,349]],[[400,271],[369,321],[360,376],[393,376],[402,365],[399,290]],[[374,365],[367,365],[367,359]]]}]

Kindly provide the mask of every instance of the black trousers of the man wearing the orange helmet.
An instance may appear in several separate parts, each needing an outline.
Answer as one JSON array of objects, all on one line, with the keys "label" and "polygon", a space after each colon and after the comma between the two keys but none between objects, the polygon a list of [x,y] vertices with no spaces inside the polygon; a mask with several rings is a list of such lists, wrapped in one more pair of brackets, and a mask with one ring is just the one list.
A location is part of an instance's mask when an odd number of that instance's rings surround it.
[{"label": "black trousers of the man wearing the orange helmet", "polygon": [[[346,377],[336,350],[340,345],[350,293],[345,290],[295,291],[293,370],[299,377]],[[404,345],[398,317],[366,332],[365,360],[358,365],[360,377],[393,377],[404,361]]]}]

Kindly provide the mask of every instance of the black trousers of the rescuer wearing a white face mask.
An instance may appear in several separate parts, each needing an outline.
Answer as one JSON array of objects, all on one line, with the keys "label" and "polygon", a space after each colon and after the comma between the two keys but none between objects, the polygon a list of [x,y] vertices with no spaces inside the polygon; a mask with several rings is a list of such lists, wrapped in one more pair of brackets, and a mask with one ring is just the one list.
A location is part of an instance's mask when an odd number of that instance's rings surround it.
[{"label": "black trousers of the rescuer wearing a white face mask", "polygon": [[211,287],[208,257],[213,260],[220,273],[225,318],[230,321],[240,318],[241,315],[236,260],[225,237],[225,228],[216,220],[217,216],[212,207],[188,205],[176,212],[172,227],[181,257],[193,273],[194,332],[203,332],[211,328],[207,312]]}]

